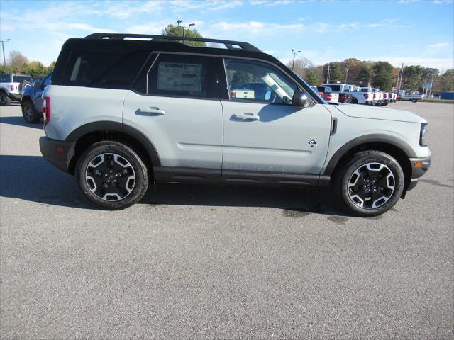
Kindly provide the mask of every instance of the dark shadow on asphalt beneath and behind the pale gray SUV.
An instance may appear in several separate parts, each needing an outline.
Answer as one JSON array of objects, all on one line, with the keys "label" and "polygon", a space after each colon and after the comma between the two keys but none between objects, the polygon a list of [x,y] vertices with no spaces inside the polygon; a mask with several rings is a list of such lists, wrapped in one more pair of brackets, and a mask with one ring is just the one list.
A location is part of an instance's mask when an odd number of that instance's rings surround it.
[{"label": "dark shadow on asphalt beneath and behind the pale gray SUV", "polygon": [[[39,156],[0,156],[0,196],[48,205],[96,209],[79,192],[73,176]],[[255,186],[150,183],[140,205],[278,208],[285,217],[310,213],[345,216],[332,194],[322,190]]]}]

